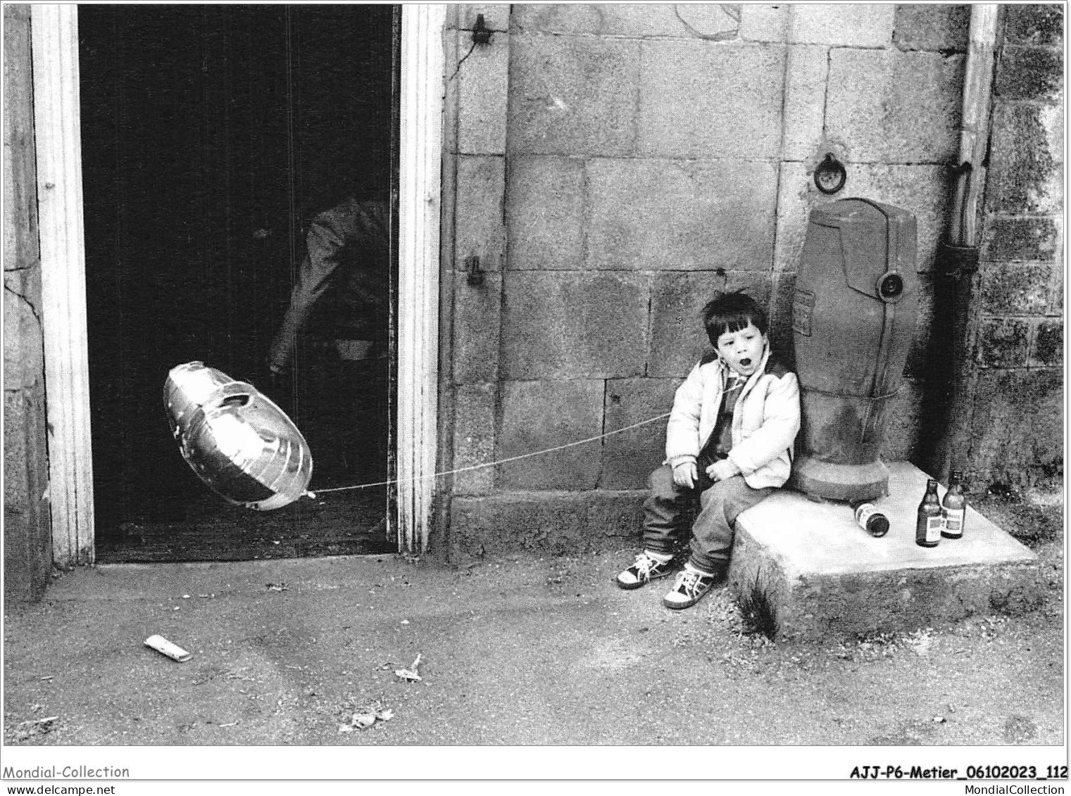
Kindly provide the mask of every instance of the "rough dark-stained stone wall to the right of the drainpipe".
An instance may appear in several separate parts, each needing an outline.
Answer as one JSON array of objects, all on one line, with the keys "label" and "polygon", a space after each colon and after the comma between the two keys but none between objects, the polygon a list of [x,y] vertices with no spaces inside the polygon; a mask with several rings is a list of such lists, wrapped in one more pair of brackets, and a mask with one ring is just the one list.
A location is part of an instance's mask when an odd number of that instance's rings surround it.
[{"label": "rough dark-stained stone wall to the right of the drainpipe", "polygon": [[979,289],[969,477],[1064,474],[1064,9],[1004,6]]}]

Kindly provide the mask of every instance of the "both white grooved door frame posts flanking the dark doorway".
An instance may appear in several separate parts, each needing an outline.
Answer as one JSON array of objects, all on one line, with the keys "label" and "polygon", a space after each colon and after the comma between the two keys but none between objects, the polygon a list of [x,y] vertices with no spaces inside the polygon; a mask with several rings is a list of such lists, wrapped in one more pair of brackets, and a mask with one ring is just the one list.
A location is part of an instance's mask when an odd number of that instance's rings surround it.
[{"label": "both white grooved door frame posts flanking the dark doorway", "polygon": [[[94,561],[78,6],[31,5],[52,560]],[[423,552],[435,494],[444,4],[402,7],[397,538]]]}]

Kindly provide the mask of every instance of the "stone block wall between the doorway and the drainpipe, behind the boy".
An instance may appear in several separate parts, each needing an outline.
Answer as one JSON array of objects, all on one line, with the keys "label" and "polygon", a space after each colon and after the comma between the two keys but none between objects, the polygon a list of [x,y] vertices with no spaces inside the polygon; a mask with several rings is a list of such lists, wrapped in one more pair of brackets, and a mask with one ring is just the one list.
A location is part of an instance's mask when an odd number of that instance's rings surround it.
[{"label": "stone block wall between the doorway and the drainpipe, behind the boy", "polygon": [[[493,41],[462,61],[476,13]],[[443,464],[525,457],[668,411],[708,345],[698,310],[718,290],[766,303],[790,357],[810,210],[848,196],[919,220],[923,306],[885,448],[917,458],[969,17],[870,3],[465,6]],[[491,121],[503,101],[504,127]],[[494,147],[472,149],[473,129],[494,131]],[[848,174],[831,197],[813,182],[827,153]],[[491,269],[479,287],[462,276],[472,254]],[[481,511],[498,534],[541,538],[539,512],[509,508],[532,496],[518,494],[634,506],[663,439],[660,420],[459,474],[453,552],[476,547]]]}]

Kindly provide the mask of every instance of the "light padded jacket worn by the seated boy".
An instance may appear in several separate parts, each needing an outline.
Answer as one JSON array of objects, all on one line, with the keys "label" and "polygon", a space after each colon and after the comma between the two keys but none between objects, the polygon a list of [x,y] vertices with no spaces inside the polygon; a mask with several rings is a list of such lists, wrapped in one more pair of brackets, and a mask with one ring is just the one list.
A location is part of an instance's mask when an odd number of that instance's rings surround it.
[{"label": "light padded jacket worn by the seated boy", "polygon": [[[666,426],[666,464],[696,461],[718,424],[727,366],[705,357],[677,388]],[[733,410],[729,459],[753,489],[780,487],[791,471],[793,445],[800,430],[800,394],[796,373],[770,359],[744,384]]]}]

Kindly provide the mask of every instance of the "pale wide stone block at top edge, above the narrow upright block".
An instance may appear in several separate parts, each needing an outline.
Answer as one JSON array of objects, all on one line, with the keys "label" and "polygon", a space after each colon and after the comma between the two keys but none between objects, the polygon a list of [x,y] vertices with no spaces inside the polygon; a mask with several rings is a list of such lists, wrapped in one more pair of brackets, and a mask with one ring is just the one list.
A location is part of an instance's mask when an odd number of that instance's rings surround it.
[{"label": "pale wide stone block at top edge, above the narrow upright block", "polygon": [[795,3],[789,6],[791,44],[885,47],[892,40],[895,5],[878,3]]}]

